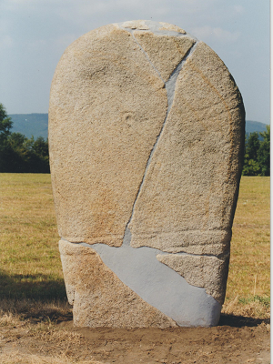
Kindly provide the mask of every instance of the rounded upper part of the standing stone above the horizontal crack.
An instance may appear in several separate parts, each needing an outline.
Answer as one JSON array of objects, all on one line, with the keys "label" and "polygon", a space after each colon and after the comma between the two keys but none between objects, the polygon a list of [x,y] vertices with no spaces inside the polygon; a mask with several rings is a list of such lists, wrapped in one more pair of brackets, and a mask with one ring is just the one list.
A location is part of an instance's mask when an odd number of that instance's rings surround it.
[{"label": "rounded upper part of the standing stone above the horizontal crack", "polygon": [[182,241],[212,254],[217,235],[199,231],[230,228],[244,117],[227,67],[176,25],[136,20],[82,35],[50,92],[60,236],[119,247],[128,227],[134,247]]}]

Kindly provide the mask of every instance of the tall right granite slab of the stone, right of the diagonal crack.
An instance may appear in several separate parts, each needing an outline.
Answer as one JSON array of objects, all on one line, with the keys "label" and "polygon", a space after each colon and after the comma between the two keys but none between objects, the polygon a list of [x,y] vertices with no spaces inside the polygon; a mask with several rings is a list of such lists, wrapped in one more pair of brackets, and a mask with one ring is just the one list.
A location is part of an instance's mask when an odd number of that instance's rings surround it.
[{"label": "tall right granite slab of the stone, right of the diagonal crack", "polygon": [[219,57],[198,43],[129,224],[133,247],[218,255],[228,250],[244,138],[238,87]]}]

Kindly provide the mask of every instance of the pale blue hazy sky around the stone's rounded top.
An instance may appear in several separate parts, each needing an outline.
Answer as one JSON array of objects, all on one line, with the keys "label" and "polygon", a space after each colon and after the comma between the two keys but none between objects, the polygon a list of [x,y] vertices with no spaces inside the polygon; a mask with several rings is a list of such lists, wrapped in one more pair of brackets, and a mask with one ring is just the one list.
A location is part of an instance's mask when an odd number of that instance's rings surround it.
[{"label": "pale blue hazy sky around the stone's rounded top", "polygon": [[0,0],[0,103],[47,113],[56,65],[90,30],[126,20],[178,25],[224,61],[246,118],[269,123],[269,0]]}]

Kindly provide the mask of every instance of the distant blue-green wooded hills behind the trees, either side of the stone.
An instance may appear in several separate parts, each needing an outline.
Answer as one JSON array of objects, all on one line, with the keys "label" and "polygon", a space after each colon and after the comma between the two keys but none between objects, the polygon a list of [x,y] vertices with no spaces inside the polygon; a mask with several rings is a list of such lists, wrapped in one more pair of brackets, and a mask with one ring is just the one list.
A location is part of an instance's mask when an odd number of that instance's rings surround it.
[{"label": "distant blue-green wooded hills behind the trees, either side of the stone", "polygon": [[[24,134],[27,137],[43,136],[47,138],[48,114],[11,114],[13,122],[12,132]],[[246,133],[267,130],[267,124],[247,120]]]}]

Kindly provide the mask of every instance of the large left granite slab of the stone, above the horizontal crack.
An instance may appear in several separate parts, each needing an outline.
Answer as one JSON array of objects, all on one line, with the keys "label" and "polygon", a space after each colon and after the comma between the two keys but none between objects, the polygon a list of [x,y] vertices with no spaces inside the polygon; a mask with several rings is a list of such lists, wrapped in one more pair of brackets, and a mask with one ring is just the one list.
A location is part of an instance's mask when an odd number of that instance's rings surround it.
[{"label": "large left granite slab of the stone, above the horizontal crack", "polygon": [[126,30],[107,25],[66,49],[49,106],[50,167],[61,237],[122,244],[166,114],[164,83]]}]

